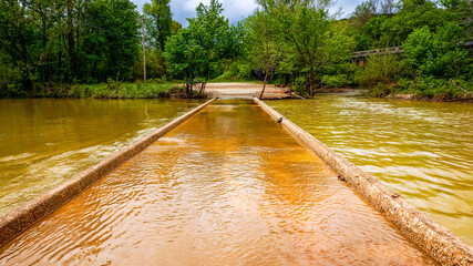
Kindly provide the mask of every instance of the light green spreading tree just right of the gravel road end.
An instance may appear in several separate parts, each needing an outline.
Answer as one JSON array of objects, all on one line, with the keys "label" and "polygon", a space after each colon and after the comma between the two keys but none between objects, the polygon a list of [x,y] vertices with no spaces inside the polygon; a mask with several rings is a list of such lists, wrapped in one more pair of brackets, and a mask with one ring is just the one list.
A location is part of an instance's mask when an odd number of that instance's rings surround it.
[{"label": "light green spreading tree just right of the gravel road end", "polygon": [[298,74],[306,78],[306,93],[313,95],[322,73],[337,62],[351,57],[351,44],[345,31],[335,25],[325,8],[329,2],[279,2],[275,16],[278,34],[286,53],[291,57]]}]

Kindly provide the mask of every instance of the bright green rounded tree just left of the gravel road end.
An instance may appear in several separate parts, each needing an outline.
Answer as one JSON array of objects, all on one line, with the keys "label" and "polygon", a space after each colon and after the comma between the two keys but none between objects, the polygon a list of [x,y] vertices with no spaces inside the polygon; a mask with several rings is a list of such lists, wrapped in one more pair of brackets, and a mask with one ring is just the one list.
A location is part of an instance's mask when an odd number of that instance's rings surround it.
[{"label": "bright green rounded tree just left of the gravel road end", "polygon": [[226,60],[235,60],[243,52],[241,25],[229,25],[222,16],[222,3],[212,0],[199,4],[197,17],[189,25],[171,37],[165,47],[167,70],[192,84],[195,76],[213,79],[222,74]]}]

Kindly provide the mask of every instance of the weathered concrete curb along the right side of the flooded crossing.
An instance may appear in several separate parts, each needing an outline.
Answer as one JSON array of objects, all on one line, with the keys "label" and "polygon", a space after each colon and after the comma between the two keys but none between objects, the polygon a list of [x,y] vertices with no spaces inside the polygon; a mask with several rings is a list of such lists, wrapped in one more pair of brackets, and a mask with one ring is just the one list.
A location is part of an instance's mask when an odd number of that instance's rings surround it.
[{"label": "weathered concrete curb along the right side of the flooded crossing", "polygon": [[282,117],[280,124],[286,130],[321,157],[337,174],[341,175],[371,205],[438,263],[442,265],[473,265],[472,246],[259,99],[254,98],[254,101],[275,120]]}]

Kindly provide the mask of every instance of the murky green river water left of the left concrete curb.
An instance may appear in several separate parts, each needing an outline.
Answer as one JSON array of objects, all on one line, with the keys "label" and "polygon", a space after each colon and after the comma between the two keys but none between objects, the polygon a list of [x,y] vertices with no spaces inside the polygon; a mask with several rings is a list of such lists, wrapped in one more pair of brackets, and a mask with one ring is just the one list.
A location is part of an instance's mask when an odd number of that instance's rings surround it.
[{"label": "murky green river water left of the left concrete curb", "polygon": [[0,215],[199,103],[0,100]]}]

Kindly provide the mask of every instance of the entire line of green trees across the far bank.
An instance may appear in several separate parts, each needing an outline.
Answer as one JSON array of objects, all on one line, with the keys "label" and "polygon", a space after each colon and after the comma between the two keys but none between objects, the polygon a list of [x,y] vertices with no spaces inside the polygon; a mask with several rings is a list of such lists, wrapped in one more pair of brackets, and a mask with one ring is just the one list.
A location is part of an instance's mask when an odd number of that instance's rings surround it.
[{"label": "entire line of green trees across the far bank", "polygon": [[[130,0],[0,0],[0,95],[142,80],[143,22],[152,82],[184,80],[189,90],[209,80],[264,80],[309,96],[357,85],[378,96],[471,95],[473,64],[462,44],[472,35],[470,0],[369,0],[342,20],[328,11],[330,0],[256,2],[232,25],[212,0],[183,29],[169,0],[146,3],[144,18]],[[394,45],[404,53],[362,66],[351,58]]]}]

